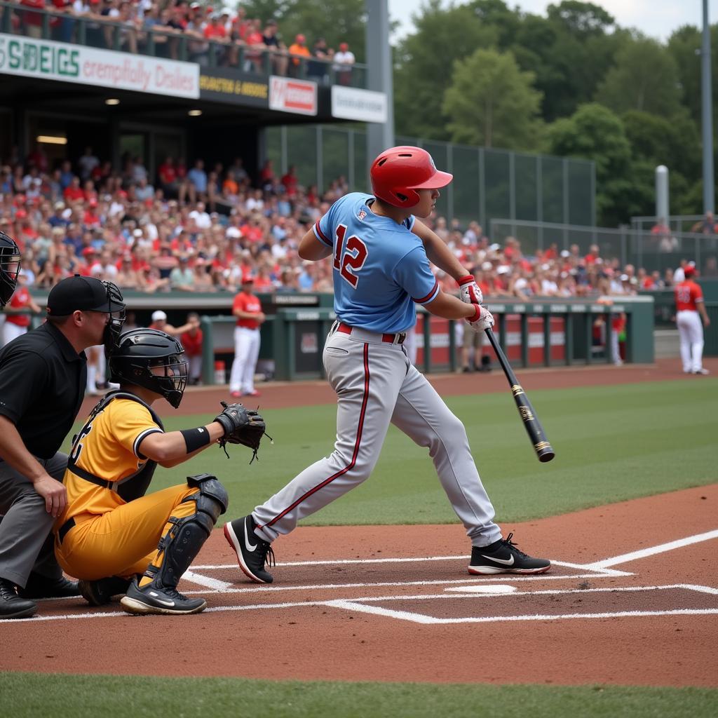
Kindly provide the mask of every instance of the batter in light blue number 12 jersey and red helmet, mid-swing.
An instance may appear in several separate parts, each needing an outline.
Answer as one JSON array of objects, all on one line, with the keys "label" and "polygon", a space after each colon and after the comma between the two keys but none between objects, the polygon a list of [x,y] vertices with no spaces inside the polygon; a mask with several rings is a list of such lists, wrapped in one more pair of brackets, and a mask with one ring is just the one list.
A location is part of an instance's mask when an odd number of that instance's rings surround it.
[{"label": "batter in light blue number 12 jersey and red helmet, mid-swing", "polygon": [[[327,378],[337,393],[337,442],[329,457],[294,477],[248,516],[225,525],[243,572],[271,583],[264,570],[271,541],[305,516],[367,479],[389,423],[429,449],[439,480],[471,539],[469,572],[543,573],[550,561],[518,551],[503,539],[482,486],[466,430],[406,355],[414,302],[445,319],[465,319],[481,332],[493,317],[480,306],[474,278],[432,230],[427,217],[452,175],[437,171],[418,147],[394,147],[373,162],[374,195],[345,195],[302,238],[299,255],[332,256],[337,322],[324,348]],[[442,292],[429,260],[460,284],[462,299]]]}]

